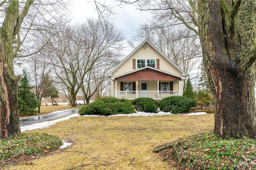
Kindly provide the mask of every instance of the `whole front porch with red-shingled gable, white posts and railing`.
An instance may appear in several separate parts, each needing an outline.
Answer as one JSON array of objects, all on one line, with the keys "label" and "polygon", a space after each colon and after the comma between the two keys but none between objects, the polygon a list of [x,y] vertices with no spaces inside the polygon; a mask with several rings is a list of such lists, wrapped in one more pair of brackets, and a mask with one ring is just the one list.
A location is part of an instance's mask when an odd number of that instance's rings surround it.
[{"label": "whole front porch with red-shingled gable, white posts and railing", "polygon": [[152,67],[144,67],[112,77],[111,96],[134,100],[148,97],[162,100],[183,94],[184,77]]}]

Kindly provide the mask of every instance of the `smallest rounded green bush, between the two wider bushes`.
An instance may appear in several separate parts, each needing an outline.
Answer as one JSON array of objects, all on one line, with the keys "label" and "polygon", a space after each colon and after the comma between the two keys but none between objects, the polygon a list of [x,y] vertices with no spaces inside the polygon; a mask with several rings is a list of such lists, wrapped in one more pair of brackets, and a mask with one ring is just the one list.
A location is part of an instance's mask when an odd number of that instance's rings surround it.
[{"label": "smallest rounded green bush, between the two wider bushes", "polygon": [[148,112],[148,113],[157,113],[158,103],[151,98],[138,98],[132,101],[136,111]]}]

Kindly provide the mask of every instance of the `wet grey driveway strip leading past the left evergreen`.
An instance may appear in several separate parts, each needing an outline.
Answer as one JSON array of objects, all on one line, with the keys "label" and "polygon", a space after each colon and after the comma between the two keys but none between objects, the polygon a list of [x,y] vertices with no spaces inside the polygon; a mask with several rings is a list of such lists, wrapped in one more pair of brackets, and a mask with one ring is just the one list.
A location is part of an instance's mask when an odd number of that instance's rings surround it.
[{"label": "wet grey driveway strip leading past the left evergreen", "polygon": [[58,111],[56,113],[50,113],[47,115],[40,115],[40,116],[34,116],[29,118],[20,119],[20,127],[25,125],[30,125],[34,123],[49,121],[52,119],[57,119],[69,115],[73,115],[75,113],[78,113],[79,109],[72,109],[72,110],[66,110],[66,111]]}]

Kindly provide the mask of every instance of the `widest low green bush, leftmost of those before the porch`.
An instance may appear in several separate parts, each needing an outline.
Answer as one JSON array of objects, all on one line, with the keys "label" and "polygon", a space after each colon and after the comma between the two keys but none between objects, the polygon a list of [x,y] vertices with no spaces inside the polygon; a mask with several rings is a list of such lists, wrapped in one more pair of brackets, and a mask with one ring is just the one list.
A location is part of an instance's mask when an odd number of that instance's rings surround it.
[{"label": "widest low green bush, leftmost of those before the porch", "polygon": [[132,103],[126,99],[104,97],[79,109],[80,115],[117,115],[134,113]]}]

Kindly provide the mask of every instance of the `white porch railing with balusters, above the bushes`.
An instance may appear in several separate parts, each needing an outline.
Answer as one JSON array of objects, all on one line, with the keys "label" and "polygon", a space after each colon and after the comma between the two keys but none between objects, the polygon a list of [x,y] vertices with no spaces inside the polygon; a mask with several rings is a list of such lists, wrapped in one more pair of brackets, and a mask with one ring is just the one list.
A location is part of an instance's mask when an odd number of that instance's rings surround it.
[{"label": "white porch railing with balusters, above the bushes", "polygon": [[[138,93],[138,94],[137,94]],[[116,91],[116,98],[133,100],[140,97],[148,97],[154,100],[161,100],[165,97],[179,96],[179,91]]]}]

